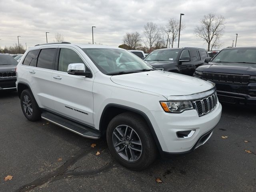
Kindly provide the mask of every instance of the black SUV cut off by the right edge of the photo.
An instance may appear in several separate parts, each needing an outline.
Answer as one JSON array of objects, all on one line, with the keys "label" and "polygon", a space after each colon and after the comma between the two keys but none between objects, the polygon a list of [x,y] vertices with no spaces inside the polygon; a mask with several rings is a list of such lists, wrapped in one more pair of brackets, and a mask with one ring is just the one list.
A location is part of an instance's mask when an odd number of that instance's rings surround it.
[{"label": "black SUV cut off by the right edge of the photo", "polygon": [[194,76],[214,82],[220,102],[256,106],[256,47],[225,48]]}]

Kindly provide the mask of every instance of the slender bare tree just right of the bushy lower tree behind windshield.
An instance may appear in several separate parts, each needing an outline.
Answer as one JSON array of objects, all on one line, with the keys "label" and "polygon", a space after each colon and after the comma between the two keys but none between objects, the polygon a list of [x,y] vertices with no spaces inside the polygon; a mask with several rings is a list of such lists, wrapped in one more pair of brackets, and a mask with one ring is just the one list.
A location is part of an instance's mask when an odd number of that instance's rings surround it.
[{"label": "slender bare tree just right of the bushy lower tree behind windshield", "polygon": [[149,49],[151,50],[153,44],[159,40],[159,29],[157,24],[147,22],[144,26],[144,35],[146,37],[146,42],[148,42]]}]

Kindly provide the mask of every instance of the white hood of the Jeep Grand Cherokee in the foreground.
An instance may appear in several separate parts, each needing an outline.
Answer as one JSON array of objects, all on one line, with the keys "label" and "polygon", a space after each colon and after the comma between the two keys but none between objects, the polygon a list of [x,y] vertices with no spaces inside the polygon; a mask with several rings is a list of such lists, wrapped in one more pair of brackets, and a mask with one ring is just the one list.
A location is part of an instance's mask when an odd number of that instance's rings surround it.
[{"label": "white hood of the Jeep Grand Cherokee in the foreground", "polygon": [[111,76],[112,82],[168,96],[190,95],[213,88],[213,84],[199,78],[166,71],[148,71]]}]

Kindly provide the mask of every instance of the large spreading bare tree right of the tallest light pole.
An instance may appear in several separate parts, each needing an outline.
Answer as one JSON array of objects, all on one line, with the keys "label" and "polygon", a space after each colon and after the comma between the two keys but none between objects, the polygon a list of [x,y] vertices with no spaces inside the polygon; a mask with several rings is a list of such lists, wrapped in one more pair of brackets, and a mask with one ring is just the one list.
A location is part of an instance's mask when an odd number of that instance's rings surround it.
[{"label": "large spreading bare tree right of the tallest light pole", "polygon": [[221,15],[209,13],[200,20],[200,26],[196,26],[195,34],[197,37],[202,38],[208,44],[208,51],[210,46],[213,48],[219,42],[225,28],[225,18]]}]

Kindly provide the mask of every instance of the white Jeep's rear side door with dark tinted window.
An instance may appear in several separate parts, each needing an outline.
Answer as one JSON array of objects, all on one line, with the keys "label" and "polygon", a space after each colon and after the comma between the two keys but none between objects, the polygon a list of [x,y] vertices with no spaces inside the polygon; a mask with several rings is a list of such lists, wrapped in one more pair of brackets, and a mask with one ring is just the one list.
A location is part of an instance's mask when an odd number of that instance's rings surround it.
[{"label": "white Jeep's rear side door with dark tinted window", "polygon": [[30,82],[30,86],[36,101],[40,108],[46,108],[53,110],[53,92],[51,87],[52,72],[54,71],[54,64],[56,59],[56,48],[41,48],[38,51],[37,58],[28,58],[27,56],[24,62],[30,62],[27,79]]}]

